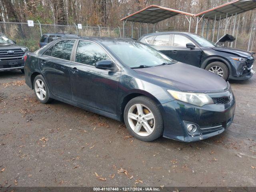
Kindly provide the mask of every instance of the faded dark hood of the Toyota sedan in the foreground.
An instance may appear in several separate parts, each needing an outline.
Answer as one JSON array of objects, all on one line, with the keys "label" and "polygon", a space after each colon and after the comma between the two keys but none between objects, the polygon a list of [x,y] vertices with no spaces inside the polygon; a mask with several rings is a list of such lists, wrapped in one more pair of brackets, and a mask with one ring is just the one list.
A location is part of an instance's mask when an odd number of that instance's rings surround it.
[{"label": "faded dark hood of the Toyota sedan in the foreground", "polygon": [[175,64],[134,69],[138,74],[186,92],[224,92],[227,82],[204,69],[177,62]]}]

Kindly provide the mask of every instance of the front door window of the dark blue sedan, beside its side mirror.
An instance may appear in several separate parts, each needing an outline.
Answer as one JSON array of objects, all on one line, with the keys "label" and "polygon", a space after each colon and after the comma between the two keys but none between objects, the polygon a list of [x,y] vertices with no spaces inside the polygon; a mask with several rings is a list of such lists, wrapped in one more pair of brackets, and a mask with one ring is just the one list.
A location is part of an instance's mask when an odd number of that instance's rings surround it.
[{"label": "front door window of the dark blue sedan, beside its side mirror", "polygon": [[76,50],[76,62],[95,66],[97,61],[109,59],[108,54],[96,43],[79,41]]}]

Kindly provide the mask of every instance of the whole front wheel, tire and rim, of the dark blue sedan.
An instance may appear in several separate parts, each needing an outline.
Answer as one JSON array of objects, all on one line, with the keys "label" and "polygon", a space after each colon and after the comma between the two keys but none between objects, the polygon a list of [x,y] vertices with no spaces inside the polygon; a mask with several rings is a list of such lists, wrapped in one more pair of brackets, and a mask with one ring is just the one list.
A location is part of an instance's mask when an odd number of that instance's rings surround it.
[{"label": "whole front wheel, tire and rim, of the dark blue sedan", "polygon": [[132,136],[146,142],[159,138],[164,131],[158,106],[145,96],[133,98],[126,104],[124,122]]}]

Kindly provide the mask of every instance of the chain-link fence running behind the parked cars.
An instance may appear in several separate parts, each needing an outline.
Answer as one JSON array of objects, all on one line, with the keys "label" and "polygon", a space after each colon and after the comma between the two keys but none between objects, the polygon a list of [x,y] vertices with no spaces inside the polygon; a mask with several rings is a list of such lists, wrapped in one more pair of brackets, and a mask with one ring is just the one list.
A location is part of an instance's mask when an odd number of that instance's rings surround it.
[{"label": "chain-link fence running behind the parked cars", "polygon": [[[226,32],[230,32],[233,28],[227,28]],[[156,28],[155,31],[166,31],[159,28]],[[174,30],[168,30],[174,31]],[[175,31],[188,32],[187,28],[184,29],[175,29]],[[194,32],[195,29],[191,28],[191,32]],[[236,28],[235,28],[236,31]],[[253,28],[252,40],[250,45],[251,28],[239,28],[236,42],[232,44],[232,47],[241,48],[247,50],[256,51],[254,46],[254,35],[256,29]],[[106,36],[106,37],[126,37],[126,38],[135,38],[138,39],[143,34],[148,34],[153,32],[152,27],[142,26],[133,28],[130,25],[126,25],[125,28],[117,27],[102,27],[102,26],[82,26],[82,29],[78,29],[76,25],[53,25],[53,24],[40,24],[34,23],[33,27],[28,26],[27,23],[15,23],[15,22],[0,22],[0,32],[6,34],[12,40],[15,40],[17,44],[28,47],[31,51],[34,51],[39,48],[38,44],[40,38],[44,33],[66,33],[66,34],[78,34],[80,36]],[[198,34],[202,35],[202,29],[198,28]],[[224,35],[224,28],[220,28],[219,38]],[[203,36],[213,42],[217,41],[217,32],[212,28],[204,30]],[[231,43],[226,44],[226,46],[231,46]]]}]

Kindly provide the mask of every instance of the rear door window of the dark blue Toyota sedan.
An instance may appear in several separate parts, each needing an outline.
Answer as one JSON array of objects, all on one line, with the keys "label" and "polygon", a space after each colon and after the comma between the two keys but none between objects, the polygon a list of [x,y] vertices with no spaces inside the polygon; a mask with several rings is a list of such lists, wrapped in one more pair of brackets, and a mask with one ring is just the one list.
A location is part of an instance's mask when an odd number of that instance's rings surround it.
[{"label": "rear door window of the dark blue Toyota sedan", "polygon": [[75,40],[61,40],[56,43],[52,50],[52,57],[70,60]]}]

